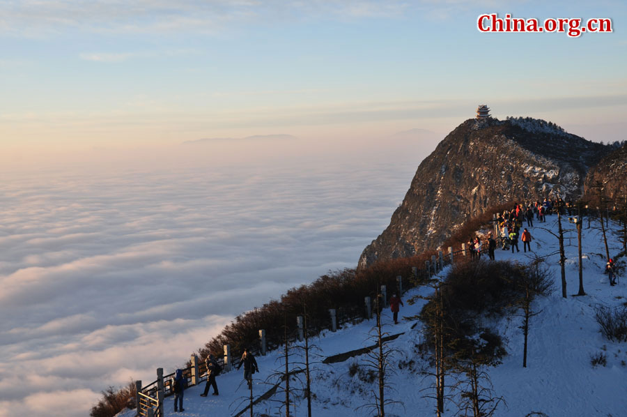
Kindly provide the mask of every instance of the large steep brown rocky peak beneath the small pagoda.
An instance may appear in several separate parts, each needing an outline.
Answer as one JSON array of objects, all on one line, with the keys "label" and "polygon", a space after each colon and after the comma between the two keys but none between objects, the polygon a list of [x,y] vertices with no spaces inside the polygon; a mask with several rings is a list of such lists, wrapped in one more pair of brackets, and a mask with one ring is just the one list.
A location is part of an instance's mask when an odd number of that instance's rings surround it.
[{"label": "large steep brown rocky peak beneath the small pagoda", "polygon": [[421,162],[389,226],[364,249],[358,267],[435,249],[489,206],[575,199],[589,167],[608,151],[542,120],[467,120]]}]

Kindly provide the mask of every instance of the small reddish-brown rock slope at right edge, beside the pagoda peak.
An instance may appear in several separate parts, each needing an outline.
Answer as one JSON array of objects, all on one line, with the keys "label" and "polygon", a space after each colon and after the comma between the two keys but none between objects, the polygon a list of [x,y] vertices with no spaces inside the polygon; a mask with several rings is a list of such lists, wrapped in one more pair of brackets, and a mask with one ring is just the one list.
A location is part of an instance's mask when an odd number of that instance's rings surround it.
[{"label": "small reddish-brown rock slope at right edge, beside the pagoda peak", "polygon": [[603,157],[586,176],[584,194],[594,195],[592,185],[603,184],[603,194],[614,201],[625,202],[627,198],[627,143]]}]

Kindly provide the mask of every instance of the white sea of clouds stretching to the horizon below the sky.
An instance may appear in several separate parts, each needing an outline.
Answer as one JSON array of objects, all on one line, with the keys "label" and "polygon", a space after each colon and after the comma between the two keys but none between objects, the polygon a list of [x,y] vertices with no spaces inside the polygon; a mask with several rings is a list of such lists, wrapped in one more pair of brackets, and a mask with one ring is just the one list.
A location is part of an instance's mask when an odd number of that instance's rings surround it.
[{"label": "white sea of clouds stretching to the horizon below the sky", "polygon": [[0,416],[87,416],[108,386],[355,266],[421,158],[3,172]]}]

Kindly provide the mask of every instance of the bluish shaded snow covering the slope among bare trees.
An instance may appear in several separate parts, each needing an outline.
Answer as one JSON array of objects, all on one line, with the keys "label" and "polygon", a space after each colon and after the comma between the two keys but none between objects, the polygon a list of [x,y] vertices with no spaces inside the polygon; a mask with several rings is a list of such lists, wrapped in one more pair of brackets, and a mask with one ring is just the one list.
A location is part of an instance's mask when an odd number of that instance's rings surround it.
[{"label": "bluish shaded snow covering the slope among bare trees", "polygon": [[[548,221],[529,228],[534,241],[533,255],[545,256],[546,264],[555,274],[555,291],[545,298],[534,301],[534,310],[541,311],[532,317],[529,333],[529,352],[527,367],[522,367],[522,333],[520,317],[506,317],[488,324],[500,333],[506,342],[507,356],[502,364],[487,369],[493,384],[495,395],[504,397],[506,404],[500,404],[497,416],[527,416],[535,412],[546,416],[627,416],[627,344],[605,340],[598,331],[594,319],[594,308],[598,305],[620,305],[627,302],[627,282],[619,278],[619,285],[610,287],[607,275],[603,273],[605,266],[605,248],[601,232],[593,228],[587,229],[588,221],[584,222],[583,254],[584,254],[584,288],[586,296],[572,296],[578,291],[578,248],[577,236],[573,224],[564,223],[570,229],[566,236],[566,280],[568,282],[568,298],[562,298],[560,283],[559,255],[550,255],[557,251],[557,238],[541,229],[546,227],[557,231],[557,217],[548,216]],[[617,239],[608,234],[610,255],[620,251]],[[532,255],[522,252],[512,254],[509,251],[497,250],[498,259],[515,259],[528,262]],[[446,273],[446,271],[444,271]],[[409,305],[407,299],[412,296],[428,295],[431,289],[412,289],[403,297],[405,306],[401,308],[401,316],[410,317],[417,314],[425,301],[417,301]],[[389,400],[401,402],[390,405],[386,409],[388,416],[419,416],[434,413],[435,400],[426,395],[431,394],[429,387],[433,377],[425,377],[421,370],[428,370],[426,361],[417,354],[416,344],[421,340],[421,324],[416,321],[403,320],[394,325],[389,310],[384,315],[385,331],[389,334],[404,332],[388,346],[397,349],[392,356],[390,369],[394,374],[389,376],[392,390],[386,393]],[[361,324],[345,326],[336,333],[325,332],[312,340],[320,349],[320,358],[343,353],[353,349],[370,346],[369,332],[374,324],[364,321]],[[414,327],[412,329],[412,327]],[[607,365],[591,365],[591,355],[603,352],[607,357]],[[258,397],[277,382],[270,377],[273,372],[283,366],[279,362],[279,351],[272,351],[265,357],[258,357],[261,370],[255,374],[254,395]],[[314,393],[314,416],[369,416],[371,410],[362,406],[373,402],[373,391],[377,391],[376,381],[366,383],[359,377],[349,374],[349,367],[354,363],[364,365],[366,355],[350,358],[341,363],[325,365],[316,363],[315,376],[312,381]],[[181,359],[183,362],[184,358]],[[171,372],[173,370],[165,370]],[[220,395],[200,397],[204,383],[188,388],[185,391],[185,412],[178,416],[233,416],[247,404],[246,385],[242,384],[242,371],[222,374],[217,378]],[[211,392],[211,391],[210,391]],[[256,415],[285,415],[279,411],[280,401],[284,395],[277,394],[273,400],[256,405]],[[362,408],[359,408],[362,407]],[[444,415],[453,416],[457,407],[447,401]],[[173,397],[165,400],[164,409],[167,415],[173,414]],[[134,415],[134,411],[121,414],[124,417]],[[249,411],[245,416],[249,415]],[[293,416],[307,415],[307,401],[297,397]]]}]

